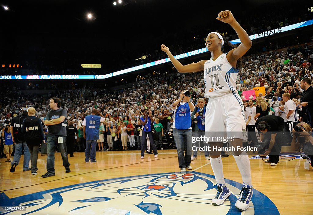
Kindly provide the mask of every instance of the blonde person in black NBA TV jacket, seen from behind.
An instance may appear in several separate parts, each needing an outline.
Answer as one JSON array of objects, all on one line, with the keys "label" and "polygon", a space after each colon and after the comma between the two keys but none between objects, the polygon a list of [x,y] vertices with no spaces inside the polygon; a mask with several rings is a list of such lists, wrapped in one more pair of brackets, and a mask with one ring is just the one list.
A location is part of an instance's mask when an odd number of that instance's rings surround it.
[{"label": "blonde person in black NBA TV jacket, seen from behind", "polygon": [[23,121],[22,132],[25,133],[26,143],[30,152],[30,161],[32,164],[32,175],[37,174],[37,160],[39,146],[44,141],[44,130],[42,122],[35,116],[36,110],[33,107],[27,109],[28,117]]}]

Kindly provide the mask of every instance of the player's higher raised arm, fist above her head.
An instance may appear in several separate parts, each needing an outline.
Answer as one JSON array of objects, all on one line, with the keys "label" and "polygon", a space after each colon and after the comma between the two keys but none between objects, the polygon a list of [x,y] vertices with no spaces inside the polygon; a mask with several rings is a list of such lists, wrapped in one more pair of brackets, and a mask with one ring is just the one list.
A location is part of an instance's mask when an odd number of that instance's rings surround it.
[{"label": "player's higher raised arm, fist above her head", "polygon": [[[240,24],[237,22],[237,20],[233,17],[233,14],[229,10],[224,10],[218,13],[218,18],[217,20],[223,22],[223,23],[228,23],[230,26],[236,31],[241,44],[235,48],[232,49],[231,51],[228,52],[230,55],[230,60],[232,62],[237,61],[239,58],[244,56],[246,52],[251,48],[252,46],[252,41],[249,38],[249,35],[247,32],[240,26]],[[231,63],[231,62],[229,62]]]}]

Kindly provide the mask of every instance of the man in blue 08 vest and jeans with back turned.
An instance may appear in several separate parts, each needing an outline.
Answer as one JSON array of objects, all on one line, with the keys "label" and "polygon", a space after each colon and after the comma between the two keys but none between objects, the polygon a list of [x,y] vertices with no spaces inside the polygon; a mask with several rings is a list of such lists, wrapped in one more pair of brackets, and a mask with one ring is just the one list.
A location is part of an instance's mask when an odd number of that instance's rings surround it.
[{"label": "man in blue 08 vest and jeans with back turned", "polygon": [[[99,114],[100,116],[97,116]],[[95,163],[96,161],[96,144],[99,139],[100,123],[105,121],[105,116],[93,108],[91,115],[85,117],[83,121],[84,138],[86,139],[85,162]]]}]

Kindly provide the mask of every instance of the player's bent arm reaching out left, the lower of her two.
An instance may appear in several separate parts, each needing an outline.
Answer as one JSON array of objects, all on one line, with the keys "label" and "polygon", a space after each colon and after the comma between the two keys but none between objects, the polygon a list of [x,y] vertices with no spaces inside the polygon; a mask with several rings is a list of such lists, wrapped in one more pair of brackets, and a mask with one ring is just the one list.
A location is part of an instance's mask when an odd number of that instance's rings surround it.
[{"label": "player's bent arm reaching out left, the lower of her two", "polygon": [[170,52],[170,49],[166,47],[164,44],[161,45],[161,50],[167,54],[172,64],[179,73],[199,72],[204,70],[204,63],[207,60],[201,60],[198,63],[187,64],[184,66],[176,58],[174,58],[173,54]]}]

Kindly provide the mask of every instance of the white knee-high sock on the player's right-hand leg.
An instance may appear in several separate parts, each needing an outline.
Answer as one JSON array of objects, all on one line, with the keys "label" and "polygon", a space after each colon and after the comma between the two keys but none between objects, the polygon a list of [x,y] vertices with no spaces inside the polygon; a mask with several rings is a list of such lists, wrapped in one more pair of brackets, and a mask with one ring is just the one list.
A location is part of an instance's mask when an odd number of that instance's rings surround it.
[{"label": "white knee-high sock on the player's right-hand leg", "polygon": [[247,152],[243,151],[241,155],[234,156],[234,158],[235,158],[235,161],[237,163],[238,169],[240,171],[242,181],[246,185],[249,185],[251,187],[252,186],[252,180],[251,180],[250,160],[249,160],[249,157],[247,155]]}]

